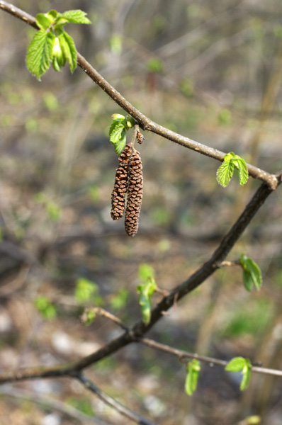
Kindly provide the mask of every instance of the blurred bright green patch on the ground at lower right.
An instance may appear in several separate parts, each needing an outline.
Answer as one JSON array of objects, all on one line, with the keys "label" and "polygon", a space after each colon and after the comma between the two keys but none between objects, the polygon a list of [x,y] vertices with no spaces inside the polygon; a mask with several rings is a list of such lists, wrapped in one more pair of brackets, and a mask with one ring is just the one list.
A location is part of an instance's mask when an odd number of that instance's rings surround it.
[{"label": "blurred bright green patch on the ground at lower right", "polygon": [[273,303],[268,299],[250,300],[237,308],[222,336],[230,338],[243,334],[263,334],[273,317]]}]

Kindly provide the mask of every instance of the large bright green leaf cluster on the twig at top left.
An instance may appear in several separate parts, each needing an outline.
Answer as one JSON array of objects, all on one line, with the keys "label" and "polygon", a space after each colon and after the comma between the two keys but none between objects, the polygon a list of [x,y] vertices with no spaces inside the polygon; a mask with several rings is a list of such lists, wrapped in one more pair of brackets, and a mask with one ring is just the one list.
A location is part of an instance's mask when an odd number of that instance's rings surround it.
[{"label": "large bright green leaf cluster on the twig at top left", "polygon": [[38,13],[36,24],[38,28],[33,40],[28,45],[26,65],[28,70],[39,80],[47,69],[52,66],[55,71],[69,63],[71,72],[77,67],[77,49],[73,38],[64,30],[67,23],[91,23],[86,13],[80,10],[59,13],[51,10]]}]

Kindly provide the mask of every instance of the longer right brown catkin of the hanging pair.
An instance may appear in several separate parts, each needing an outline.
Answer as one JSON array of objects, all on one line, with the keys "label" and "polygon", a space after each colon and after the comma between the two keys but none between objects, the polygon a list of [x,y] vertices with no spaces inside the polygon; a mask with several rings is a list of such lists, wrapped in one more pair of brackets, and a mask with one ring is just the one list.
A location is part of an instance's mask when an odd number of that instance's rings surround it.
[{"label": "longer right brown catkin of the hanging pair", "polygon": [[143,175],[140,153],[135,151],[128,163],[128,200],[125,210],[125,232],[135,236],[143,196]]}]

